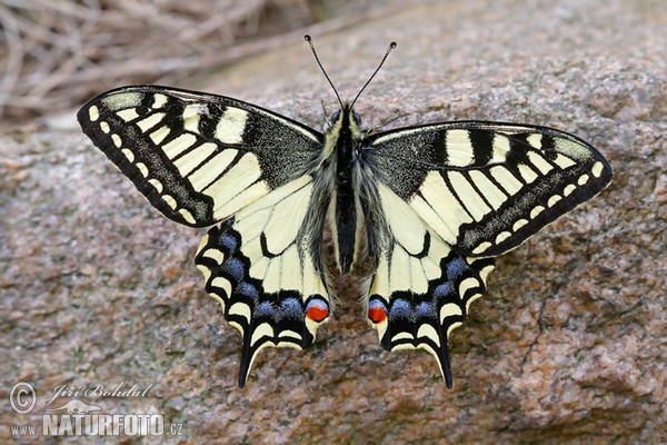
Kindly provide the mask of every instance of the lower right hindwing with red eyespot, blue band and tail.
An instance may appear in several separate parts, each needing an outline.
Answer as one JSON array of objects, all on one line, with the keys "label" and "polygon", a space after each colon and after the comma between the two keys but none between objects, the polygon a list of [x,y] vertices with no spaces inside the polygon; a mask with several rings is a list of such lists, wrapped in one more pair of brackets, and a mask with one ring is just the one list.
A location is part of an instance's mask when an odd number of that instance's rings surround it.
[{"label": "lower right hindwing with red eyespot, blue band and tail", "polygon": [[385,349],[422,348],[432,354],[451,387],[449,334],[486,290],[495,261],[454,250],[387,186],[378,185],[378,197],[385,227],[370,234],[377,268],[369,320]]}]

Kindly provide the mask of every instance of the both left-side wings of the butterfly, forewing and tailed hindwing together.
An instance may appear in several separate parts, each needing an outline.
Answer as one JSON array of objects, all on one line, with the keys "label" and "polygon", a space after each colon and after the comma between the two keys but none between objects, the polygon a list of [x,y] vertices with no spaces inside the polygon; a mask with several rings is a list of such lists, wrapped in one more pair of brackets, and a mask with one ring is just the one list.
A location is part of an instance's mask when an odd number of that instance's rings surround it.
[{"label": "both left-side wings of the butterfly, forewing and tailed hindwing together", "polygon": [[78,119],[168,218],[196,227],[229,218],[209,230],[196,263],[243,337],[239,386],[261,348],[312,343],[329,314],[326,189],[313,195],[307,172],[322,135],[236,99],[155,86],[100,95]]}]

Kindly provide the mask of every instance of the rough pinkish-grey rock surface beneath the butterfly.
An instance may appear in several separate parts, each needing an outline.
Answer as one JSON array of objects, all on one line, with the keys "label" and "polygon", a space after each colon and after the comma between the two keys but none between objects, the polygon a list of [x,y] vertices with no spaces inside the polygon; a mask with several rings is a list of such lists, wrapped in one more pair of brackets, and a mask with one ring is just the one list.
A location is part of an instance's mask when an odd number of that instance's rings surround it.
[{"label": "rough pinkish-grey rock surface beneath the butterfly", "polygon": [[[193,266],[203,230],[160,217],[79,131],[2,136],[0,393],[38,393],[31,414],[0,407],[2,423],[41,427],[71,398],[44,405],[62,385],[127,382],[148,390],[79,398],[162,414],[182,424],[172,443],[667,442],[666,21],[649,0],[475,0],[313,36],[344,98],[399,42],[358,101],[369,127],[549,125],[615,168],[607,190],[499,259],[451,337],[452,390],[429,355],[380,348],[355,276],[310,349],[266,350],[239,389],[239,336]],[[318,128],[320,100],[336,107],[300,40],[180,86]]]}]

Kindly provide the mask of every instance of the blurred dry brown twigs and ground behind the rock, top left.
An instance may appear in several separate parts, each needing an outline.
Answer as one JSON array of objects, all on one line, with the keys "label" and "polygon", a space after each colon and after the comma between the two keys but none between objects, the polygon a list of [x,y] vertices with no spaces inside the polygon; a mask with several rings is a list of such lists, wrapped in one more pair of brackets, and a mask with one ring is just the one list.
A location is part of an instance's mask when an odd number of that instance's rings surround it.
[{"label": "blurred dry brown twigs and ground behind the rock, top left", "polygon": [[[414,3],[414,2],[412,2]],[[410,1],[1,0],[0,118],[26,122],[123,83],[178,83]]]}]

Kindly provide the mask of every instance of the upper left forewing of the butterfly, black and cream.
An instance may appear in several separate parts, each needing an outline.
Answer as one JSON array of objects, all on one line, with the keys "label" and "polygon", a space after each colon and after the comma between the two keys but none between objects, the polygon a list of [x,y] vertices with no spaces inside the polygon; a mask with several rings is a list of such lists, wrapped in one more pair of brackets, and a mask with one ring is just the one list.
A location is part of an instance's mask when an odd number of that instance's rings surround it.
[{"label": "upper left forewing of the butterfly, black and cream", "polygon": [[319,132],[260,107],[157,86],[104,92],[78,119],[153,207],[196,227],[303,175],[322,145]]}]

